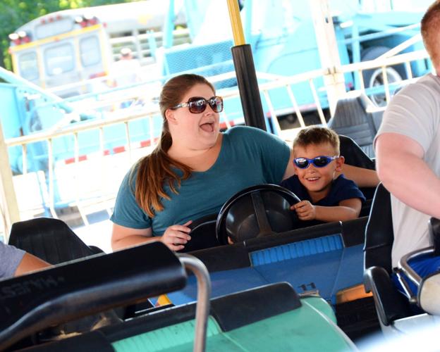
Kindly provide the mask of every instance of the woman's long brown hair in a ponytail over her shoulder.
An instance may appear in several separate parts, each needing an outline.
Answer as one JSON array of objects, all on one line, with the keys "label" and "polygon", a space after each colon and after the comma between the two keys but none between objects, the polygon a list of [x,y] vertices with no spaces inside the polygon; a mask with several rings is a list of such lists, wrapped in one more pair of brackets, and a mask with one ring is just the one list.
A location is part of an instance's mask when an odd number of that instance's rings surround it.
[{"label": "woman's long brown hair in a ponytail over her shoulder", "polygon": [[[152,153],[140,159],[132,168],[130,180],[133,180],[134,171],[136,168],[138,169],[135,199],[150,218],[154,217],[155,212],[164,210],[161,198],[170,199],[164,191],[164,184],[168,184],[171,191],[178,194],[177,189],[181,187],[181,180],[186,180],[191,175],[190,167],[173,160],[166,153],[169,151],[173,139],[165,113],[169,108],[181,103],[185,93],[196,84],[207,84],[215,94],[213,85],[200,75],[178,75],[164,84],[159,97],[159,108],[164,119],[159,143]],[[181,170],[183,175],[178,175],[173,168]]]}]

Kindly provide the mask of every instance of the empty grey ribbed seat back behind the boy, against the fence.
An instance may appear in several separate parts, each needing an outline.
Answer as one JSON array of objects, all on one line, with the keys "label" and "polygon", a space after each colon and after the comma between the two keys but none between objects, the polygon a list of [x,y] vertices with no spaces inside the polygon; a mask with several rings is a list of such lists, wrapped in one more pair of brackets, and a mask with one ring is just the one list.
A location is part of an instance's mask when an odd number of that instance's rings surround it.
[{"label": "empty grey ribbed seat back behind the boy, against the fence", "polygon": [[328,123],[337,134],[353,138],[369,158],[374,158],[373,139],[382,116],[382,112],[367,112],[367,106],[372,104],[365,94],[340,99]]}]

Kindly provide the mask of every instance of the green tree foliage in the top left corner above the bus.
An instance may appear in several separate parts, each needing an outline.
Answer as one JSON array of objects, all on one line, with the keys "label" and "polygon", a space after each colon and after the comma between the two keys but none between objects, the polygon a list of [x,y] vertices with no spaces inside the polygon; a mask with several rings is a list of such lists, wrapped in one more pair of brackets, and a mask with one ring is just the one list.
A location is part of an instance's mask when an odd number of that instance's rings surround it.
[{"label": "green tree foliage in the top left corner above the bus", "polygon": [[0,65],[11,70],[8,35],[30,20],[54,11],[131,2],[130,0],[2,0],[0,1]]}]

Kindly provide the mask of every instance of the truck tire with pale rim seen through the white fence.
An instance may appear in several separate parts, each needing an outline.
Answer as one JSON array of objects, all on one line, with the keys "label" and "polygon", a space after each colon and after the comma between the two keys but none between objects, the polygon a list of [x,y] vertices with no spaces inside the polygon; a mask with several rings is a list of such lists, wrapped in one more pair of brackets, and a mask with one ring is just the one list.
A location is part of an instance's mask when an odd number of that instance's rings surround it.
[{"label": "truck tire with pale rim seen through the white fence", "polygon": [[[361,61],[374,60],[389,50],[390,49],[386,46],[372,46],[362,52]],[[386,68],[386,75],[389,83],[399,82],[406,77],[405,66],[403,64],[389,66]],[[364,79],[365,88],[381,85],[384,80],[381,68],[365,70],[362,73],[362,77]],[[391,92],[391,95],[393,95],[393,93],[395,92]],[[386,106],[385,94],[372,94],[369,96],[369,99],[377,106]]]}]

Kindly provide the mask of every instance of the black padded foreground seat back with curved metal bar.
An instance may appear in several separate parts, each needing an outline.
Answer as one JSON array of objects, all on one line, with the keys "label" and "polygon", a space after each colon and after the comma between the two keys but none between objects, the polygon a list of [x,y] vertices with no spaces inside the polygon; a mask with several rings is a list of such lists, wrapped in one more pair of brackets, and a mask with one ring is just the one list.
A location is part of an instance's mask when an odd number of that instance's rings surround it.
[{"label": "black padded foreground seat back with curved metal bar", "polygon": [[[178,258],[160,242],[2,280],[0,291],[8,294],[1,296],[0,350],[46,327],[182,289],[184,267],[200,273],[197,279],[207,287],[201,310],[209,310],[207,270],[191,256]],[[207,316],[207,311],[202,313]]]}]

